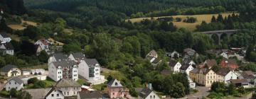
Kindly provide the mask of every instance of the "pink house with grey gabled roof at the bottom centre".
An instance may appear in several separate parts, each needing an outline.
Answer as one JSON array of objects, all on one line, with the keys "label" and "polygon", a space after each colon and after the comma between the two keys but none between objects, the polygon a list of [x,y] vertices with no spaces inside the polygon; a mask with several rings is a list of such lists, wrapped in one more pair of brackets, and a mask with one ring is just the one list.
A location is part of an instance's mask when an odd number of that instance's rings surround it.
[{"label": "pink house with grey gabled roof at the bottom centre", "polygon": [[124,98],[128,94],[122,84],[117,79],[112,79],[110,83],[107,83],[107,92],[110,98]]}]

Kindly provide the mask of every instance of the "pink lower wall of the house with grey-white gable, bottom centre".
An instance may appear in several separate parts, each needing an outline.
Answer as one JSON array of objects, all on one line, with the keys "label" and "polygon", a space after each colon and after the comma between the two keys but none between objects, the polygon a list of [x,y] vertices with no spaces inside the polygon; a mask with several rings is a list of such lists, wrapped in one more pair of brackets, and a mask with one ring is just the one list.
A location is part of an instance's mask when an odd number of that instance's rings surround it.
[{"label": "pink lower wall of the house with grey-white gable, bottom centre", "polygon": [[124,98],[124,93],[121,92],[123,89],[123,87],[107,86],[107,92],[110,95],[110,98]]}]

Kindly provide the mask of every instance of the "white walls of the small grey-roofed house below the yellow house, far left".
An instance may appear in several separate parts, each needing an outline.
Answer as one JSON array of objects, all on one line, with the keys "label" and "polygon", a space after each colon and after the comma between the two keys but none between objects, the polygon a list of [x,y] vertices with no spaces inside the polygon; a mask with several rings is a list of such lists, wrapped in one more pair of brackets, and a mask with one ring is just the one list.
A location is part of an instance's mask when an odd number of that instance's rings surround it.
[{"label": "white walls of the small grey-roofed house below the yellow house, far left", "polygon": [[16,81],[11,80],[11,81],[9,81],[9,82],[6,83],[6,85],[4,86],[4,88],[6,88],[6,91],[10,91],[11,88],[15,88],[16,91],[20,91],[21,88],[23,88],[23,83],[18,84],[18,83],[16,83]]}]

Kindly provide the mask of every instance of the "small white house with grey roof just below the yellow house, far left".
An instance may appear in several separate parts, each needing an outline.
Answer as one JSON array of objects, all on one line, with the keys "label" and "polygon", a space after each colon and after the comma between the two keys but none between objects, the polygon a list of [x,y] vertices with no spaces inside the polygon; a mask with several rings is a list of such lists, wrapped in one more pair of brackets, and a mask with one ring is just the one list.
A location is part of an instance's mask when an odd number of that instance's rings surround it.
[{"label": "small white house with grey roof just below the yellow house, far left", "polygon": [[16,91],[20,91],[23,88],[23,81],[18,77],[11,78],[9,81],[7,81],[4,88],[6,91],[10,91],[11,88],[16,89]]}]

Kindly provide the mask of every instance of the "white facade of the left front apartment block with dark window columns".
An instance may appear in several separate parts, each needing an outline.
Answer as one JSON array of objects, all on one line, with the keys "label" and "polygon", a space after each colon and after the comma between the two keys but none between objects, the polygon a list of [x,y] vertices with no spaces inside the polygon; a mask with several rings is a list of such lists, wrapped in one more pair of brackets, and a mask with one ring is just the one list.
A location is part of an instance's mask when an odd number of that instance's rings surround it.
[{"label": "white facade of the left front apartment block with dark window columns", "polygon": [[[68,68],[68,67],[62,67],[62,66],[55,66],[52,62],[48,66],[48,72],[49,72],[48,76],[50,78],[52,78],[54,81],[59,81],[61,78],[69,78],[68,76],[67,77],[63,76],[63,75],[65,75],[65,73],[63,73],[64,70],[67,70],[66,73],[68,75],[72,75],[73,80],[75,80],[75,81],[78,80],[78,66],[77,65],[70,66],[70,68]],[[71,72],[68,73],[68,71],[71,71]]]}]

